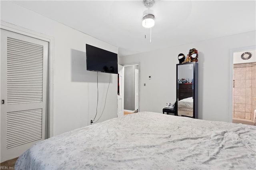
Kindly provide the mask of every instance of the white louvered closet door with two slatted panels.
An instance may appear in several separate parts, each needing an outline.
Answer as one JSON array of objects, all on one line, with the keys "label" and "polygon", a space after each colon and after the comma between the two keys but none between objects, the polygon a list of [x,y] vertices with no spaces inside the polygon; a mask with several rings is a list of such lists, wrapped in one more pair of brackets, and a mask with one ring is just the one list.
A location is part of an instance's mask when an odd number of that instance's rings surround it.
[{"label": "white louvered closet door with two slatted panels", "polygon": [[48,42],[1,29],[1,162],[45,138]]}]

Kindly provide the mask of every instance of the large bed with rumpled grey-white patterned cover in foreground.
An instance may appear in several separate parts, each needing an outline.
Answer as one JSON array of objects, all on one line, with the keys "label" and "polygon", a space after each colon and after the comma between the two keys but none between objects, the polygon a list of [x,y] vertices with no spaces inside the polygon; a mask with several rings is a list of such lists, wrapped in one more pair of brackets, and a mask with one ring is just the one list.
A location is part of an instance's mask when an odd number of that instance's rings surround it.
[{"label": "large bed with rumpled grey-white patterned cover in foreground", "polygon": [[15,169],[255,169],[256,127],[139,112],[38,142]]}]

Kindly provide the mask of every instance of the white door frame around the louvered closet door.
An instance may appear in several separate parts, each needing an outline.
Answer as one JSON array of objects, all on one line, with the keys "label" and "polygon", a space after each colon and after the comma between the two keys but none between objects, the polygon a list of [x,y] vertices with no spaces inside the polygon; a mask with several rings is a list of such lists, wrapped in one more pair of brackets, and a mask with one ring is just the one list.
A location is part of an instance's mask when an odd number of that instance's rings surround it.
[{"label": "white door frame around the louvered closet door", "polygon": [[53,134],[53,111],[54,111],[54,100],[53,100],[53,94],[54,94],[54,38],[51,36],[47,36],[42,33],[34,32],[32,30],[28,30],[26,28],[16,26],[14,24],[10,24],[8,22],[4,22],[1,20],[0,28],[3,30],[15,32],[18,34],[22,34],[24,36],[29,36],[32,38],[36,38],[39,40],[43,40],[49,43],[49,49],[48,49],[48,99],[46,105],[48,105],[47,113],[48,113],[48,129],[47,129],[47,136],[46,138],[50,138],[54,136]]}]

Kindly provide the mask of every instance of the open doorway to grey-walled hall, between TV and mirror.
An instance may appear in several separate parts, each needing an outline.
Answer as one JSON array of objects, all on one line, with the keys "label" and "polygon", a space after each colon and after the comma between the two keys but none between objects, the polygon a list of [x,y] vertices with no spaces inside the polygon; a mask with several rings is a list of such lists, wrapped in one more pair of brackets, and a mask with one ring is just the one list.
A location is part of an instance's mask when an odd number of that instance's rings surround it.
[{"label": "open doorway to grey-walled hall, between TV and mirror", "polygon": [[139,64],[124,65],[124,115],[139,111]]}]

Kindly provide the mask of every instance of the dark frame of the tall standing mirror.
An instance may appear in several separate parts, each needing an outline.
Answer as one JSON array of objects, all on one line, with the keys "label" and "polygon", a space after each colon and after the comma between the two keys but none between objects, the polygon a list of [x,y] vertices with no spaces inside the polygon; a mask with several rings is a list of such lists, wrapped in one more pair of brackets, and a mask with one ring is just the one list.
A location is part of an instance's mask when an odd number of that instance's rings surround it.
[{"label": "dark frame of the tall standing mirror", "polygon": [[[179,93],[178,93],[178,86],[179,86],[179,82],[178,82],[178,66],[179,65],[186,65],[186,64],[193,64],[193,117],[197,119],[198,118],[198,63],[197,62],[190,62],[190,63],[180,63],[180,64],[176,64],[176,102],[177,102],[177,107],[176,107],[176,115],[178,115],[178,99],[180,99],[179,97]],[[184,97],[186,98],[186,97]],[[184,115],[182,115],[184,116]],[[189,116],[186,116],[189,117]]]}]

